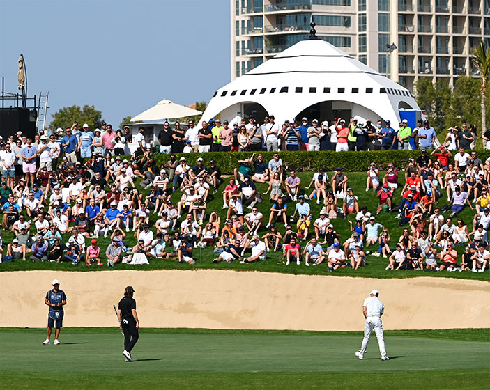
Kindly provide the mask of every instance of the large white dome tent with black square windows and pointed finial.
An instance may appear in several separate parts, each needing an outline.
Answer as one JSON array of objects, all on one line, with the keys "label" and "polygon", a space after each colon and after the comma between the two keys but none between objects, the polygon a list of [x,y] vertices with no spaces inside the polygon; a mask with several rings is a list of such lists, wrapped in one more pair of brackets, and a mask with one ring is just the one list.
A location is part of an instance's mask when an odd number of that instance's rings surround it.
[{"label": "large white dome tent with black square windows and pointed finial", "polygon": [[[231,123],[255,111],[274,115],[276,123],[283,123],[308,112],[326,116],[319,120],[356,116],[375,123],[381,118],[391,120],[398,130],[399,110],[404,109],[420,113],[408,89],[317,38],[312,29],[309,39],[218,89],[202,119],[221,114],[222,120]],[[257,114],[257,119],[263,118]]]}]

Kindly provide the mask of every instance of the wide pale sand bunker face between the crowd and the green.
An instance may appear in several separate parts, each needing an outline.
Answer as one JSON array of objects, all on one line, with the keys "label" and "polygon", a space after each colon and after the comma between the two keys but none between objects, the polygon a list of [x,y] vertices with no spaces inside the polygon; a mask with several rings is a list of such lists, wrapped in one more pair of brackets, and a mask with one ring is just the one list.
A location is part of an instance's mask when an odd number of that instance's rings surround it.
[{"label": "wide pale sand bunker face between the crowd and the green", "polygon": [[361,330],[362,301],[380,290],[385,329],[488,327],[490,283],[182,270],[1,272],[0,327],[44,327],[52,279],[68,296],[65,326],[116,325],[113,304],[135,288],[142,327]]}]

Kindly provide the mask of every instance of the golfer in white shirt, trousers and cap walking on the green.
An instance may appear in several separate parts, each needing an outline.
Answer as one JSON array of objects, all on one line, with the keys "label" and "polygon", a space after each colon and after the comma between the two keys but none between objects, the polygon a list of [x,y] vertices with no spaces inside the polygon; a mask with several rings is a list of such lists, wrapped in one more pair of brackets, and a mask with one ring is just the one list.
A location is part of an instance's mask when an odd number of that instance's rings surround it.
[{"label": "golfer in white shirt, trousers and cap walking on the green", "polygon": [[373,329],[374,333],[376,333],[376,338],[378,338],[381,360],[390,359],[388,356],[386,356],[385,339],[383,337],[383,323],[381,322],[381,315],[383,315],[385,311],[385,305],[383,305],[383,302],[378,299],[378,295],[378,290],[372,290],[372,292],[369,292],[369,298],[366,298],[364,300],[364,304],[362,304],[362,314],[364,314],[366,321],[364,325],[364,338],[362,339],[362,346],[359,351],[355,352],[355,356],[357,356],[359,359],[364,359],[367,343],[369,343],[369,338],[371,338]]}]

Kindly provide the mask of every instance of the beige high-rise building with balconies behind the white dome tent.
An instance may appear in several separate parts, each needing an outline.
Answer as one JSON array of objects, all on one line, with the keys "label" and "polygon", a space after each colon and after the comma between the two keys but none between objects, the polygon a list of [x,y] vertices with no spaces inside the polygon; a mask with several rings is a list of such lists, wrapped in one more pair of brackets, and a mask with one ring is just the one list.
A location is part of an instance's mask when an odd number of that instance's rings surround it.
[{"label": "beige high-rise building with balconies behind the white dome tent", "polygon": [[231,0],[231,79],[307,38],[312,17],[317,36],[409,89],[475,74],[471,49],[490,44],[490,0]]}]

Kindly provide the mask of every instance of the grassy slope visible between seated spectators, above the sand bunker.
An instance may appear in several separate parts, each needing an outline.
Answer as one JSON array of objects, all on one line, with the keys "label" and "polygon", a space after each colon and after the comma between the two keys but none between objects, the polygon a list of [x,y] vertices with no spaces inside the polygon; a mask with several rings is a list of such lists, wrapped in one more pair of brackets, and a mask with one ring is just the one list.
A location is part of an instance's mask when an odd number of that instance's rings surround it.
[{"label": "grassy slope visible between seated spectators, above the sand bunker", "polygon": [[[332,173],[328,173],[330,178],[332,177]],[[303,180],[302,184],[303,187],[306,187],[309,184],[309,181],[312,178],[313,173],[298,173],[298,176],[300,176],[301,180]],[[384,175],[384,172],[380,173],[380,176]],[[356,194],[360,201],[360,207],[363,205],[367,205],[368,209],[370,212],[374,213],[376,212],[376,205],[377,205],[377,199],[374,194],[374,192],[369,191],[365,192],[365,178],[366,175],[365,173],[348,173],[347,176],[349,177],[349,185],[353,187],[354,194]],[[399,180],[402,183],[404,182],[404,172],[400,171],[399,173]],[[141,188],[141,187],[139,187]],[[224,185],[220,187],[220,189],[224,188]],[[266,192],[266,185],[257,185],[257,189],[259,192]],[[309,194],[311,190],[307,190],[307,194]],[[146,192],[145,192],[146,193]],[[173,201],[174,203],[178,202],[178,199],[180,198],[180,194],[176,192],[173,196]],[[268,200],[268,196],[264,196]],[[400,196],[400,189],[395,192],[395,204],[398,204],[401,199]],[[291,212],[289,214],[292,214],[294,210],[296,202],[293,202],[289,205],[289,208]],[[321,210],[321,205],[316,205],[316,201],[312,200],[309,201],[309,204],[312,207],[312,214],[314,217],[318,216],[320,210]],[[443,196],[439,200],[439,206],[447,204],[447,200],[445,196]],[[338,202],[338,205],[341,206],[342,203],[341,201]],[[268,201],[264,201],[263,203],[259,203],[259,211],[264,214],[265,217],[268,216],[269,214],[269,208],[270,208],[270,203]],[[217,212],[220,214],[220,217],[222,218],[222,221],[225,219],[225,211],[222,210],[222,196],[220,195],[220,192],[218,194],[210,194],[210,198],[208,200],[208,210],[217,210]],[[246,209],[245,209],[246,210]],[[445,215],[447,216],[449,214],[446,213]],[[464,222],[468,225],[468,229],[471,231],[472,230],[472,225],[471,221],[473,219],[473,214],[474,211],[470,210],[468,207],[461,212],[461,214],[458,217],[461,217]],[[350,215],[349,219],[353,221],[354,216]],[[156,221],[156,217],[152,214],[151,215],[151,221],[154,223]],[[380,214],[377,218],[377,220],[386,226],[388,228],[388,231],[390,232],[391,235],[391,247],[395,247],[395,243],[397,242],[399,236],[401,235],[401,231],[403,228],[398,227],[398,221],[399,219],[395,219],[395,214]],[[455,221],[455,219],[454,219]],[[349,223],[348,221],[345,221],[344,219],[335,219],[332,220],[332,224],[335,226],[335,230],[341,234],[341,241],[344,242],[350,235],[351,232],[349,231]],[[266,225],[266,221],[263,223],[263,225]],[[278,225],[278,229],[280,232],[284,233],[284,225]],[[266,233],[266,228],[261,229],[261,235]],[[132,233],[131,233],[132,235]],[[13,234],[12,233],[4,233],[3,235],[3,240],[8,242],[13,239]],[[68,240],[68,235],[65,235],[63,237],[64,240]],[[127,238],[126,242],[129,241],[134,241],[134,238]],[[89,242],[89,240],[87,240]],[[99,242],[102,243],[102,252],[105,251],[105,244],[109,242],[109,239],[104,239],[103,237],[100,237]],[[304,242],[303,242],[304,244]],[[132,244],[130,244],[132,245]],[[377,248],[372,248],[372,249],[377,249]],[[461,253],[463,250],[463,246],[457,246],[458,251]],[[292,274],[329,274],[326,265],[322,265],[319,267],[305,267],[304,264],[297,266],[297,265],[289,265],[289,267],[286,267],[285,265],[277,265],[277,260],[280,260],[280,253],[268,253],[268,260],[266,262],[262,263],[257,263],[257,264],[250,264],[250,265],[241,265],[238,264],[238,262],[233,263],[231,265],[228,264],[218,264],[215,265],[211,263],[213,258],[216,256],[213,255],[213,249],[210,248],[205,248],[202,250],[202,258],[200,256],[200,250],[199,248],[195,249],[195,255],[194,259],[197,260],[197,263],[195,265],[179,265],[176,264],[175,261],[171,260],[151,260],[150,259],[150,265],[146,266],[130,266],[130,265],[117,265],[116,269],[135,269],[135,270],[158,270],[158,269],[195,269],[195,268],[217,268],[217,269],[233,269],[233,270],[261,270],[265,272],[287,272],[287,273],[292,273]],[[202,262],[201,262],[202,260]],[[335,272],[335,275],[337,276],[360,276],[360,277],[378,277],[378,278],[405,278],[405,277],[415,277],[415,276],[438,276],[438,277],[450,277],[450,278],[463,278],[463,279],[477,279],[477,280],[483,280],[483,281],[489,281],[489,272],[485,272],[484,274],[475,274],[473,272],[413,272],[413,271],[386,271],[385,267],[388,264],[388,260],[383,259],[383,258],[376,258],[374,256],[368,256],[367,257],[367,267],[362,267],[358,271],[353,271],[351,268],[345,268],[343,270],[339,270]],[[60,263],[60,264],[55,264],[55,263],[31,263],[31,262],[23,262],[22,260],[17,260],[15,263],[2,263],[0,265],[0,271],[15,271],[15,270],[66,270],[66,271],[84,271],[84,272],[100,272],[100,270],[107,270],[107,267],[85,267],[83,263],[80,263],[79,265],[71,265],[68,263]]]}]

